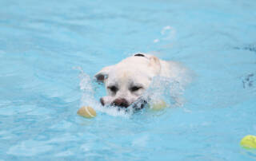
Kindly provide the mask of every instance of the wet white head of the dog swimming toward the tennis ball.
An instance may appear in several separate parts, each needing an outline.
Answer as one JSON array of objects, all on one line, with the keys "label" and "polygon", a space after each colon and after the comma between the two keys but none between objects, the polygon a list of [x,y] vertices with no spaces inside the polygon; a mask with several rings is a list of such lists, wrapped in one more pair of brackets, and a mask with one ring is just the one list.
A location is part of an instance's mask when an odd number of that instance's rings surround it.
[{"label": "wet white head of the dog swimming toward the tennis ball", "polygon": [[100,99],[102,105],[127,108],[142,96],[160,70],[158,58],[144,53],[103,68],[95,75],[97,81],[105,84],[108,93]]}]

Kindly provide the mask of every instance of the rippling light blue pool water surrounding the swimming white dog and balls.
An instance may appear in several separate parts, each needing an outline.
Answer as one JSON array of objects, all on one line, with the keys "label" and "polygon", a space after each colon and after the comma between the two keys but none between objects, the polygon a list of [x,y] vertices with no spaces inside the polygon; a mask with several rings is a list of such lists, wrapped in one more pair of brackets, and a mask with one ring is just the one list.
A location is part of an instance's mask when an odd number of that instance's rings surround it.
[{"label": "rippling light blue pool water surrounding the swimming white dog and balls", "polygon": [[[254,0],[0,1],[0,160],[256,160]],[[184,103],[126,115],[93,76],[135,52],[194,73]],[[81,105],[98,116],[77,116]]]}]

